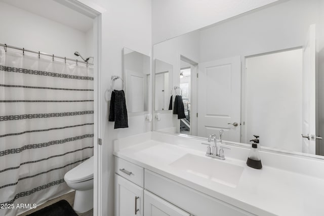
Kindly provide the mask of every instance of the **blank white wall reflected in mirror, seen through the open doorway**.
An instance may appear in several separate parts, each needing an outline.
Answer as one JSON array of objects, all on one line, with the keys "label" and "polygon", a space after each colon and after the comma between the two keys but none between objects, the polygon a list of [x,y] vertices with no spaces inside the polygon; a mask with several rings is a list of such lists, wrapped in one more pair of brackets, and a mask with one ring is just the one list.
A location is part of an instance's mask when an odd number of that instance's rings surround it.
[{"label": "blank white wall reflected in mirror, seen through the open doorway", "polygon": [[303,152],[302,64],[302,49],[247,59],[247,143]]}]

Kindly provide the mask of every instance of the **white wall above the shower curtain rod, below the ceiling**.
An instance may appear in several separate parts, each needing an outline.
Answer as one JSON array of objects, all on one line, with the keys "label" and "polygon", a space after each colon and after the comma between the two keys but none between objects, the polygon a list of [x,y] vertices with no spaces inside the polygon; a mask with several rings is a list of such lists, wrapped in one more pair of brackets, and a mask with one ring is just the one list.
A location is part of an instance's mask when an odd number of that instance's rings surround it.
[{"label": "white wall above the shower curtain rod, below the ceiling", "polygon": [[0,43],[73,59],[86,53],[85,32],[3,2],[0,8]]}]

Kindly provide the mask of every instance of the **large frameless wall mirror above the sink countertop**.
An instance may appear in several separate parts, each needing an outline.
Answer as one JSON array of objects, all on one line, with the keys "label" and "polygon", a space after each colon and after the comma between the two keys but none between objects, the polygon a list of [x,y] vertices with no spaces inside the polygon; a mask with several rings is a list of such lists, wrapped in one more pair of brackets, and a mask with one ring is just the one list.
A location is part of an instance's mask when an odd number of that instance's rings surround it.
[{"label": "large frameless wall mirror above the sink countertop", "polygon": [[278,1],[160,42],[153,59],[173,66],[184,116],[159,113],[153,129],[202,138],[223,129],[228,142],[257,135],[264,149],[324,155],[323,48],[321,0]]}]

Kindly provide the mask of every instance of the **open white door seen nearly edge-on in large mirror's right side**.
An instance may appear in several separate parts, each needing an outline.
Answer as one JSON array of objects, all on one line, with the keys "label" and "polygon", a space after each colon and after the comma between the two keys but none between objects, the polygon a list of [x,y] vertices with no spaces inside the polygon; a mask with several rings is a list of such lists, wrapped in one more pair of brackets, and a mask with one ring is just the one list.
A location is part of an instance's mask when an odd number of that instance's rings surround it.
[{"label": "open white door seen nearly edge-on in large mirror's right side", "polygon": [[303,152],[315,154],[315,72],[316,72],[316,37],[315,24],[308,29],[303,47]]}]

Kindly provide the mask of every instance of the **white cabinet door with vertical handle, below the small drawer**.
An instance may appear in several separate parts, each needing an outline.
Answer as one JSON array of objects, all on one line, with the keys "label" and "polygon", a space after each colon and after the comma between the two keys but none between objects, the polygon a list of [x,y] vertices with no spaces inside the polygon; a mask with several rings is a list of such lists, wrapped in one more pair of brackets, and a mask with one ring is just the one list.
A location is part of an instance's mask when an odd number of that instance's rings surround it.
[{"label": "white cabinet door with vertical handle, below the small drawer", "polygon": [[143,190],[115,174],[115,216],[143,216]]}]

